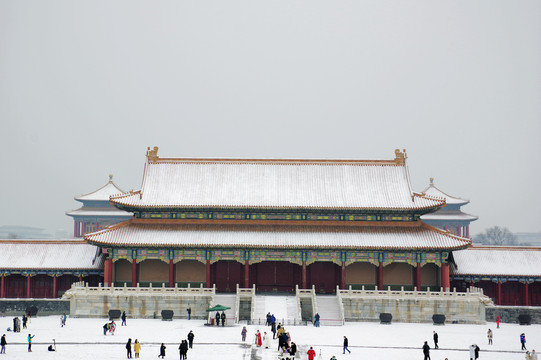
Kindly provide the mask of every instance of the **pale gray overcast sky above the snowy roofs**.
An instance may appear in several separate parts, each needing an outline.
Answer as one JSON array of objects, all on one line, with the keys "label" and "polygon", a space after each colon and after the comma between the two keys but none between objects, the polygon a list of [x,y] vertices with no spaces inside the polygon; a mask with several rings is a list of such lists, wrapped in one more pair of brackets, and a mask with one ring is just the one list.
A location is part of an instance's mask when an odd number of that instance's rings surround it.
[{"label": "pale gray overcast sky above the snowy roofs", "polygon": [[2,1],[0,225],[164,157],[391,159],[541,230],[540,1]]}]

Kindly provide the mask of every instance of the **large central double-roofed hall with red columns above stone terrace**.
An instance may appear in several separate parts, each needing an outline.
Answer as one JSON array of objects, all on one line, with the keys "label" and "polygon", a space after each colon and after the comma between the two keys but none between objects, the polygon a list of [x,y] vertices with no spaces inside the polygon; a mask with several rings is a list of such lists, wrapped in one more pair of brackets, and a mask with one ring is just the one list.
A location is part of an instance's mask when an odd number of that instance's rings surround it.
[{"label": "large central double-roofed hall with red columns above stone terrace", "polygon": [[107,254],[108,285],[448,288],[451,254],[471,241],[420,220],[445,199],[411,190],[406,158],[182,159],[149,148],[141,189],[111,196],[134,217],[84,239]]}]

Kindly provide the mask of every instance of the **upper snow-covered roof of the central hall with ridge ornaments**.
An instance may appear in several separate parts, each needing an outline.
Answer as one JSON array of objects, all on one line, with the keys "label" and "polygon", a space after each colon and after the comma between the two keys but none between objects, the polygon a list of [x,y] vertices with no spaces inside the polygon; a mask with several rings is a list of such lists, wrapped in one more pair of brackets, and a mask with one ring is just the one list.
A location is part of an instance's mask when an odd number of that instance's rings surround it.
[{"label": "upper snow-covered roof of the central hall with ridge ornaments", "polygon": [[[157,151],[157,150],[156,150]],[[400,157],[402,156],[402,157]],[[160,159],[149,157],[141,190],[111,197],[135,208],[431,209],[414,194],[405,154],[394,160]]]}]

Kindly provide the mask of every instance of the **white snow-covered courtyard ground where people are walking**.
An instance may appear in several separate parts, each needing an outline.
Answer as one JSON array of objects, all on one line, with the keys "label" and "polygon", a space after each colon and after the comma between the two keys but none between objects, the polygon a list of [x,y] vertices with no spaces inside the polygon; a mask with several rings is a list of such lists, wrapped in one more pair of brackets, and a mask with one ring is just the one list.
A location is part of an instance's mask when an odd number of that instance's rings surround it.
[{"label": "white snow-covered courtyard ground where people are walking", "polygon": [[[194,348],[188,351],[188,359],[248,360],[277,359],[277,342],[272,341],[272,349],[255,348],[252,340],[256,330],[270,329],[265,326],[248,326],[246,343],[240,339],[242,325],[210,327],[202,320],[161,321],[159,319],[129,319],[128,326],[118,323],[114,336],[103,335],[105,319],[68,318],[67,325],[60,327],[59,316],[36,317],[28,324],[28,329],[20,333],[5,331],[13,326],[12,317],[0,317],[1,334],[6,334],[8,342],[6,354],[2,359],[125,359],[125,344],[128,338],[141,342],[141,359],[157,359],[159,346],[167,346],[166,359],[178,359],[178,345],[190,330],[195,333]],[[494,331],[494,345],[487,345],[486,332]],[[538,348],[541,352],[541,325],[520,326],[516,324],[456,325],[434,326],[432,324],[381,325],[379,323],[347,323],[345,326],[288,326],[292,340],[297,343],[301,359],[307,359],[306,351],[313,346],[322,360],[332,355],[337,359],[423,359],[421,346],[428,341],[433,347],[432,331],[439,334],[439,350],[431,350],[432,360],[469,359],[467,348],[476,343],[481,348],[480,360],[524,359],[520,351],[519,335],[524,332],[528,349]],[[26,337],[35,334],[33,352],[27,352]],[[349,339],[351,354],[342,355],[342,341]],[[271,334],[272,336],[272,334]],[[48,352],[47,346],[56,339],[57,352]],[[248,341],[249,340],[249,341]]]}]

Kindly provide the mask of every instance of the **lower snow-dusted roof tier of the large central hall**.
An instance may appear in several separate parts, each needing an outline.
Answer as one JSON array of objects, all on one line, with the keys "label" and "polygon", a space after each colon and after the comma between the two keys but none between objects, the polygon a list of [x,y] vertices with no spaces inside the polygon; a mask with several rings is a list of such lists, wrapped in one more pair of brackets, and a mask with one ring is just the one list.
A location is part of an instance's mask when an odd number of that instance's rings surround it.
[{"label": "lower snow-dusted roof tier of the large central hall", "polygon": [[119,247],[463,249],[471,244],[420,221],[380,226],[281,226],[129,220],[84,238],[96,245]]}]

